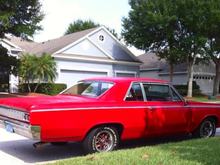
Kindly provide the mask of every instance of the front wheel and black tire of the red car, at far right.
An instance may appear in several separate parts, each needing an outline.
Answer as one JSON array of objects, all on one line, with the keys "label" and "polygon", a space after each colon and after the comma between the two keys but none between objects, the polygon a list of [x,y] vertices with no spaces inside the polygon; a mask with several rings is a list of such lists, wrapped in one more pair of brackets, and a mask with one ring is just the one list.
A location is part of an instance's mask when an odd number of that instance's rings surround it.
[{"label": "front wheel and black tire of the red car, at far right", "polygon": [[202,121],[200,126],[194,133],[196,138],[209,138],[215,136],[216,132],[216,121],[213,118],[207,118]]}]

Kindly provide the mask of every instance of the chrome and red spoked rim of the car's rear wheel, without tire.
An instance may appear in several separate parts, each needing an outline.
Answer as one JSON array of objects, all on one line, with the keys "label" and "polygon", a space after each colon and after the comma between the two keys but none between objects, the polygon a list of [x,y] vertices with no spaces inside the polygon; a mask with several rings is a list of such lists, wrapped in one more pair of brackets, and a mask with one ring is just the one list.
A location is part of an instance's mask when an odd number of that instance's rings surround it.
[{"label": "chrome and red spoked rim of the car's rear wheel, without tire", "polygon": [[108,130],[103,130],[99,132],[95,137],[95,149],[98,152],[110,151],[114,145],[114,137]]}]

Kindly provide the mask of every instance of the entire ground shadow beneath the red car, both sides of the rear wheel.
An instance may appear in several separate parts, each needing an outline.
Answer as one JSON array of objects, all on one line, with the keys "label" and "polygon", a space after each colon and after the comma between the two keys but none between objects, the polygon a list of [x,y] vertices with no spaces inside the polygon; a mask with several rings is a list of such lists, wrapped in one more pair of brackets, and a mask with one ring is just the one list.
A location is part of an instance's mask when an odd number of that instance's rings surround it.
[{"label": "entire ground shadow beneath the red car, both sides of the rear wheel", "polygon": [[[220,132],[220,131],[219,131]],[[160,137],[141,140],[124,141],[120,144],[119,150],[131,149],[144,146],[153,146],[169,142],[179,142],[190,140],[189,136],[181,137]],[[35,141],[28,139],[2,141],[0,142],[0,151],[9,154],[25,163],[42,163],[57,161],[77,156],[84,156],[82,145],[79,143],[67,143],[64,145],[45,144],[41,148],[34,148]],[[164,149],[164,148],[163,148]]]}]

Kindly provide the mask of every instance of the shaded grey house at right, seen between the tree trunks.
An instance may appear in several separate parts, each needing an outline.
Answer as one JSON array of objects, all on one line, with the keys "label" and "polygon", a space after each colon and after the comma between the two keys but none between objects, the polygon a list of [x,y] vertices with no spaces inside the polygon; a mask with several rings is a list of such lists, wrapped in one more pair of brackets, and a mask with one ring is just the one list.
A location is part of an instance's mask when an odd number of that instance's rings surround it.
[{"label": "shaded grey house at right, seen between the tree trunks", "polygon": [[[145,53],[138,56],[143,62],[140,66],[140,77],[152,77],[163,80],[170,80],[169,65],[165,60],[160,60],[154,53]],[[209,64],[198,64],[193,67],[193,80],[200,86],[203,94],[210,95],[213,91],[213,83],[215,78],[215,65],[212,62]],[[173,84],[186,85],[188,81],[186,63],[174,66]]]}]

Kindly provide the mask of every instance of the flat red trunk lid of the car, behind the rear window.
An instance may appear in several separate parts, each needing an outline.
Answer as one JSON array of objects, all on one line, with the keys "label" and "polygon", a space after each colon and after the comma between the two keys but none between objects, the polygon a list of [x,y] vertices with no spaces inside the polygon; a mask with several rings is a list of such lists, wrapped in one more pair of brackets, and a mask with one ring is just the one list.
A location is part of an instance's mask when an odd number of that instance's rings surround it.
[{"label": "flat red trunk lid of the car, behind the rear window", "polygon": [[44,108],[67,108],[76,107],[86,102],[96,102],[95,98],[87,98],[81,96],[71,95],[57,95],[57,96],[25,96],[16,98],[2,98],[0,99],[0,106],[12,107],[24,111]]}]

